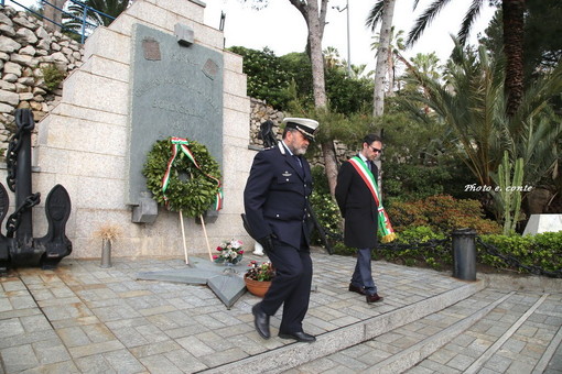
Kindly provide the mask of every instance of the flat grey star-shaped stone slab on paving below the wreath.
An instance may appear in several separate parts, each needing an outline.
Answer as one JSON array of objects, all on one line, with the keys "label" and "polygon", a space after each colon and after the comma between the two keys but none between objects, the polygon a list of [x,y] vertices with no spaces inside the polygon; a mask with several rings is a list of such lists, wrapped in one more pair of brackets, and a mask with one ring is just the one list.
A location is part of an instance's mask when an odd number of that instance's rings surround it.
[{"label": "flat grey star-shaped stone slab on paving below the wreath", "polygon": [[226,308],[230,309],[246,292],[246,284],[242,278],[247,268],[246,265],[246,263],[240,263],[237,266],[229,267],[209,260],[190,257],[190,265],[186,268],[141,272],[137,274],[137,279],[207,285]]}]

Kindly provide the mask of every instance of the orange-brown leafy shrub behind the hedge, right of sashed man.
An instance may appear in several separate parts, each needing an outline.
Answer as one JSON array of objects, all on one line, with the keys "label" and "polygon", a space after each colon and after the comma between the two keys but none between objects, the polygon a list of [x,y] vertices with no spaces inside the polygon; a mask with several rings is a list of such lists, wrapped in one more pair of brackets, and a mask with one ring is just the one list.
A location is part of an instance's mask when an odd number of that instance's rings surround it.
[{"label": "orange-brown leafy shrub behind the hedge, right of sashed man", "polygon": [[479,201],[458,200],[448,195],[435,195],[410,202],[393,201],[388,208],[388,215],[397,232],[419,226],[426,226],[440,233],[450,233],[461,228],[475,229],[478,234],[501,232],[497,222],[484,218]]}]

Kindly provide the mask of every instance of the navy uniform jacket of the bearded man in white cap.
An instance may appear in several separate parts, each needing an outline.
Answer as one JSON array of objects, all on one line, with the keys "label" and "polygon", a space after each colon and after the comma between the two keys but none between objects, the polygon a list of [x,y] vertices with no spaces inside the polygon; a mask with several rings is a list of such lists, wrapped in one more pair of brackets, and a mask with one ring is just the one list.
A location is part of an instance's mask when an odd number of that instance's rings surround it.
[{"label": "navy uniform jacket of the bearded man in white cap", "polygon": [[281,143],[256,154],[244,190],[246,217],[256,239],[274,234],[300,249],[304,235],[310,243],[305,217],[312,175],[306,160],[301,160],[303,167]]}]

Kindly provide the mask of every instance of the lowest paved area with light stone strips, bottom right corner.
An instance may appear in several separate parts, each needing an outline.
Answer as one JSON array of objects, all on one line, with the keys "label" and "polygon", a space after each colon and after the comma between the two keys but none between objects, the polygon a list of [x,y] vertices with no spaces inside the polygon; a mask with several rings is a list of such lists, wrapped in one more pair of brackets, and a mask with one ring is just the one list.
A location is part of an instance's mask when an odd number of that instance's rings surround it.
[{"label": "lowest paved area with light stone strips, bottom right corner", "polygon": [[[560,294],[511,293],[407,373],[543,373],[562,340]],[[558,367],[562,370],[562,367]]]}]

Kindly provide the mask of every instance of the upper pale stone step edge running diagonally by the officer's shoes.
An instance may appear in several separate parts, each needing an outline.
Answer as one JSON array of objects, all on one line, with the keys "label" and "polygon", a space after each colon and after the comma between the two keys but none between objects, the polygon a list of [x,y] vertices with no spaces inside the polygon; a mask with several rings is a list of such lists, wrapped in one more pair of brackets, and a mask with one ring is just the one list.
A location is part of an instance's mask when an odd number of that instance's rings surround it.
[{"label": "upper pale stone step edge running diagonally by the officer's shoes", "polygon": [[282,373],[331,354],[339,354],[337,352],[353,349],[357,344],[439,312],[480,292],[484,286],[483,282],[467,283],[458,288],[322,333],[316,337],[317,340],[313,344],[296,342],[287,344],[201,373],[247,373],[249,367],[255,373]]}]

